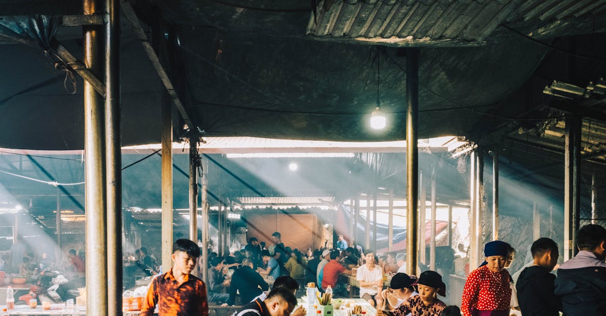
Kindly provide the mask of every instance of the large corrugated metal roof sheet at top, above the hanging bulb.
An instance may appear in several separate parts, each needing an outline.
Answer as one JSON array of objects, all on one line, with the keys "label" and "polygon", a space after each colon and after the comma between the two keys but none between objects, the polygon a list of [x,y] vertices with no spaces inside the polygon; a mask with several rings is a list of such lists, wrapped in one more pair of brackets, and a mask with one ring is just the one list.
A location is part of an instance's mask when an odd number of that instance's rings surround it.
[{"label": "large corrugated metal roof sheet at top, above the hanging bulb", "polygon": [[402,46],[427,42],[481,44],[504,23],[534,30],[606,8],[604,0],[324,0],[307,34]]}]

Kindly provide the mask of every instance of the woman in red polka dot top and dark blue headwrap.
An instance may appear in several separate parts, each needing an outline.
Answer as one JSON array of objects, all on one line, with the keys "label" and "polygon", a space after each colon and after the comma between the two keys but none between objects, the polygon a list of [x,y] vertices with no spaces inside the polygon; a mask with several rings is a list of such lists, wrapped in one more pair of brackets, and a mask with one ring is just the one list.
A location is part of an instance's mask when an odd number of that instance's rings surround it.
[{"label": "woman in red polka dot top and dark blue headwrap", "polygon": [[471,273],[461,297],[464,316],[508,316],[511,300],[507,262],[507,243],[495,240],[484,246],[485,266]]}]

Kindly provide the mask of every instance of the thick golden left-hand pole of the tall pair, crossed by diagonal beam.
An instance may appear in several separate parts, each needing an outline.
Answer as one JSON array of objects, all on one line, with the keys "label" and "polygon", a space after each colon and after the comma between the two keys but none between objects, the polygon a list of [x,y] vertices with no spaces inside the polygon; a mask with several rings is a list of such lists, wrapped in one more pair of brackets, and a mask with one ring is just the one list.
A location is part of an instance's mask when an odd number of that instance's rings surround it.
[{"label": "thick golden left-hand pole of the tall pair, crossed by diagonal beam", "polygon": [[[94,0],[84,0],[85,15],[101,13]],[[98,77],[102,59],[99,54],[102,29],[84,26],[84,64]],[[108,315],[107,299],[107,227],[105,210],[105,131],[102,97],[84,81],[84,162],[86,289],[89,315]]]}]

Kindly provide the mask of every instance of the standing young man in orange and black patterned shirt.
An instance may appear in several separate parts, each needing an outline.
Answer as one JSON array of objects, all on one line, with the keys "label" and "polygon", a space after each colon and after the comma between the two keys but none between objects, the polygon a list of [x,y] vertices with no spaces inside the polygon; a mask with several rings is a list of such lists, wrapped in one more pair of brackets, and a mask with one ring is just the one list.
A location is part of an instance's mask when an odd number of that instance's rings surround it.
[{"label": "standing young man in orange and black patterned shirt", "polygon": [[141,316],[152,316],[158,304],[159,316],[207,316],[206,285],[191,275],[200,248],[188,239],[173,244],[173,268],[151,281]]}]

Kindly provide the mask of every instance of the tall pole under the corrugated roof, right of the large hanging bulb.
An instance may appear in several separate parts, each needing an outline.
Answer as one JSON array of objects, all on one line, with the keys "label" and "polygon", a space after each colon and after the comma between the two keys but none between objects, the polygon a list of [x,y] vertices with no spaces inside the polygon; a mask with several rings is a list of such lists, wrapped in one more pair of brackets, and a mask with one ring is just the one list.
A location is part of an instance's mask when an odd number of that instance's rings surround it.
[{"label": "tall pole under the corrugated roof, right of the large hanging bulb", "polygon": [[406,54],[406,267],[408,274],[417,274],[419,192],[419,50],[408,48]]}]

